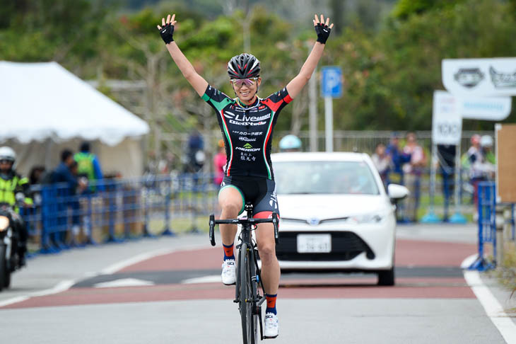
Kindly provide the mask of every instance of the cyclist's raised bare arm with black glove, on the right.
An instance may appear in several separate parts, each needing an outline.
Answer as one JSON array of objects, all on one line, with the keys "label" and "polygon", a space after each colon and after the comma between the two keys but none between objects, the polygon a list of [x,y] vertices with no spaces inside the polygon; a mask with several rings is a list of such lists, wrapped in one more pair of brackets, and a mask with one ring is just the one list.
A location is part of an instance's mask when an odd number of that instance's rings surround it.
[{"label": "cyclist's raised bare arm with black glove, on the right", "polygon": [[319,63],[319,59],[322,57],[326,40],[333,28],[333,24],[329,26],[328,24],[329,18],[326,18],[326,23],[324,23],[324,16],[321,14],[321,21],[319,22],[317,14],[315,15],[314,28],[315,33],[317,33],[317,42],[315,42],[315,45],[303,64],[303,67],[301,67],[299,74],[287,84],[288,95],[291,96],[291,98],[298,96],[308,80],[310,80],[310,76],[312,76],[315,71],[315,67],[317,67],[317,63]]}]

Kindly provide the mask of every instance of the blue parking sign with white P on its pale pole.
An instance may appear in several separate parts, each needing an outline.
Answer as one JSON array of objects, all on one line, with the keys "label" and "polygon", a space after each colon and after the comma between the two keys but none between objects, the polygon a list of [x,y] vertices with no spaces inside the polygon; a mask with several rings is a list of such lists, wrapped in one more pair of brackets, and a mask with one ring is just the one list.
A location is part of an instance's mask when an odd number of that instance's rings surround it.
[{"label": "blue parking sign with white P on its pale pole", "polygon": [[326,151],[333,151],[333,98],[342,96],[342,70],[340,67],[322,67],[321,72]]}]

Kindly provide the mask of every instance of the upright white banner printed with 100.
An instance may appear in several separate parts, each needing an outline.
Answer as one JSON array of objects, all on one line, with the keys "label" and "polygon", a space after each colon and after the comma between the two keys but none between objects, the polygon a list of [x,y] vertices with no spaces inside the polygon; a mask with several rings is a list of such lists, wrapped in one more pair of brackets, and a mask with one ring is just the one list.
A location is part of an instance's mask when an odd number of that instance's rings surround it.
[{"label": "upright white banner printed with 100", "polygon": [[446,91],[433,91],[433,144],[459,144],[462,134],[460,110],[459,99]]}]

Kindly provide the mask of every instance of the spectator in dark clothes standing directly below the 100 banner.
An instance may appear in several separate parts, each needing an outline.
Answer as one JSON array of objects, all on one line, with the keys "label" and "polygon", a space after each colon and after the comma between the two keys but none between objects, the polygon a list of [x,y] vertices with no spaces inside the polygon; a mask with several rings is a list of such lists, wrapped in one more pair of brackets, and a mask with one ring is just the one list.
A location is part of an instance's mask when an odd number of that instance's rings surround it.
[{"label": "spectator in dark clothes standing directly below the 100 banner", "polygon": [[455,154],[457,146],[454,144],[438,144],[437,155],[439,163],[439,173],[442,178],[442,195],[445,198],[445,214],[442,221],[449,219],[450,198],[453,195],[455,186]]}]

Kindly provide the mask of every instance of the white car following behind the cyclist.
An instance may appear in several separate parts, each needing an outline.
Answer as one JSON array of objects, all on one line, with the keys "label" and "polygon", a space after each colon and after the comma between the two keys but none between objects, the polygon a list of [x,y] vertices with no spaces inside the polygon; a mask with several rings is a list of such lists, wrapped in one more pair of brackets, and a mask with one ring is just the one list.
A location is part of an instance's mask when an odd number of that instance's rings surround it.
[{"label": "white car following behind the cyclist", "polygon": [[395,200],[367,154],[271,156],[281,214],[276,256],[282,271],[377,273],[394,285]]}]

